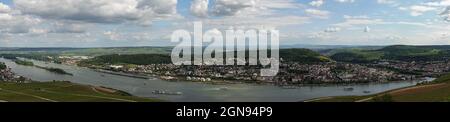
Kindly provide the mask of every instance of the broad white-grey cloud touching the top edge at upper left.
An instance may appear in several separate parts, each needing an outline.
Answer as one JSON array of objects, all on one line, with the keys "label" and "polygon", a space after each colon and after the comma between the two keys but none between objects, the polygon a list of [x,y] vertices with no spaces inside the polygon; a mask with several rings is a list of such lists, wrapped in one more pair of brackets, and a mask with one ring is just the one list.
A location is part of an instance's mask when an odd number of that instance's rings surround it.
[{"label": "broad white-grey cloud touching the top edge at upper left", "polygon": [[25,14],[48,19],[118,23],[176,13],[176,0],[15,0]]}]

